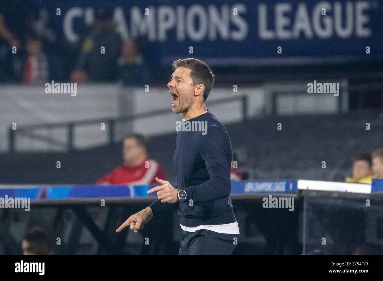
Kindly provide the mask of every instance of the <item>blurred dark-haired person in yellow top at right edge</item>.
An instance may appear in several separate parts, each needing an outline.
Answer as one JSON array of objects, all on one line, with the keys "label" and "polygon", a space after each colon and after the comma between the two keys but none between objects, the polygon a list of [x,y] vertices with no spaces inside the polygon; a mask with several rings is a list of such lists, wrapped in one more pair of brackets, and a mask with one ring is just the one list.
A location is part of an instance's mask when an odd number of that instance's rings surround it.
[{"label": "blurred dark-haired person in yellow top at right edge", "polygon": [[352,177],[346,177],[345,182],[371,184],[372,181],[371,156],[362,154],[355,159],[352,167]]}]

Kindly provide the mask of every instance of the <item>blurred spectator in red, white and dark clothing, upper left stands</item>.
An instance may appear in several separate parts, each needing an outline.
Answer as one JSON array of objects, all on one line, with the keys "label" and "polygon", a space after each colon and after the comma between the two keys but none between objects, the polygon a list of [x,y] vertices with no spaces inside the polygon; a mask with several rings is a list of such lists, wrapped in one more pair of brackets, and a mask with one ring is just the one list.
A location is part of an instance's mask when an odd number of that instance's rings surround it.
[{"label": "blurred spectator in red, white and dark clothing, upper left stands", "polygon": [[44,84],[49,79],[49,66],[43,42],[38,37],[29,37],[26,46],[28,57],[23,67],[23,82],[28,85]]}]

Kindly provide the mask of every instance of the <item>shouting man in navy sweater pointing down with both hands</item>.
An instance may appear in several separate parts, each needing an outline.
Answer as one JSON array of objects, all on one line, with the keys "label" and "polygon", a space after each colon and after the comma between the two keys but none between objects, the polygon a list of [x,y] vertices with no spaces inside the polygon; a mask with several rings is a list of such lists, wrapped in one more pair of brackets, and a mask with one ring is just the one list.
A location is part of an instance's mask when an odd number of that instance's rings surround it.
[{"label": "shouting man in navy sweater pointing down with both hands", "polygon": [[[231,141],[223,124],[205,106],[214,75],[206,63],[195,58],[176,60],[173,71],[167,84],[172,110],[182,114],[184,123],[177,130],[173,158],[177,184],[173,187],[156,178],[160,185],[148,193],[157,192],[158,200],[133,214],[117,232],[129,225],[137,232],[153,216],[178,207],[180,255],[231,255],[239,237],[229,198]],[[201,124],[207,124],[206,128]]]}]

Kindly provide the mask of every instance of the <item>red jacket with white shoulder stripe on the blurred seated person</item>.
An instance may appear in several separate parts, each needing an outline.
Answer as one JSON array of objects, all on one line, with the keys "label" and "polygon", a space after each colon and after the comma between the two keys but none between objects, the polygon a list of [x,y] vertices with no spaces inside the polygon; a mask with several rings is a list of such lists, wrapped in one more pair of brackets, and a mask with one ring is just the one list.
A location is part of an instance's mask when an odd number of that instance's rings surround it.
[{"label": "red jacket with white shoulder stripe on the blurred seated person", "polygon": [[[148,161],[148,162],[146,162]],[[165,179],[164,171],[157,161],[146,159],[137,167],[121,165],[113,172],[97,180],[97,184],[108,182],[110,184],[146,185],[156,184],[155,177]]]}]

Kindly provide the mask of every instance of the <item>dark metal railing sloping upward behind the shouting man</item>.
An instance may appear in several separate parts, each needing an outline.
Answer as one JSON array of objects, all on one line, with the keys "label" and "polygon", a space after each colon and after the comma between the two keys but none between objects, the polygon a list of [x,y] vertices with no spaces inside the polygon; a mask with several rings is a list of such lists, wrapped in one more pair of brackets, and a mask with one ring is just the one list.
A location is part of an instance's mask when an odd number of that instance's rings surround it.
[{"label": "dark metal railing sloping upward behind the shouting man", "polygon": [[[241,101],[242,106],[242,116],[243,120],[245,121],[247,119],[247,96],[234,96],[234,97],[226,97],[223,99],[218,99],[214,101],[208,101],[206,102],[207,106],[212,106],[216,104],[224,104],[228,102],[233,101]],[[16,133],[26,136],[31,139],[45,141],[46,143],[52,144],[52,145],[58,145],[63,148],[66,148],[68,151],[74,150],[74,128],[75,126],[80,125],[94,125],[94,124],[100,124],[105,123],[109,124],[109,136],[108,136],[108,143],[109,145],[113,145],[115,143],[115,125],[118,122],[126,122],[126,121],[134,121],[138,119],[144,119],[144,118],[150,118],[150,117],[156,117],[158,115],[162,114],[169,114],[169,108],[167,109],[159,109],[159,110],[151,110],[149,112],[143,112],[138,114],[132,114],[117,118],[98,118],[98,119],[87,119],[87,120],[79,120],[79,121],[73,121],[73,122],[59,122],[59,123],[44,123],[44,124],[38,124],[38,125],[28,125],[28,128],[23,127],[17,127],[17,130],[13,130],[12,127],[9,128],[9,151],[10,153],[15,153],[15,146],[16,146]],[[36,133],[33,133],[31,131],[35,129],[46,129],[46,130],[52,130],[57,128],[65,128],[67,131],[67,141],[59,141],[55,140],[53,138],[50,138],[49,136],[43,136],[38,135]]]}]

